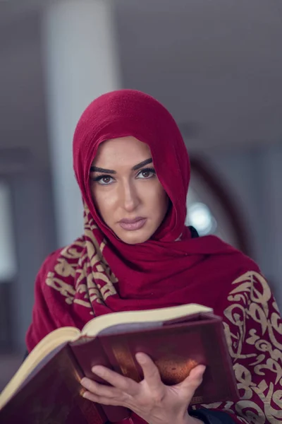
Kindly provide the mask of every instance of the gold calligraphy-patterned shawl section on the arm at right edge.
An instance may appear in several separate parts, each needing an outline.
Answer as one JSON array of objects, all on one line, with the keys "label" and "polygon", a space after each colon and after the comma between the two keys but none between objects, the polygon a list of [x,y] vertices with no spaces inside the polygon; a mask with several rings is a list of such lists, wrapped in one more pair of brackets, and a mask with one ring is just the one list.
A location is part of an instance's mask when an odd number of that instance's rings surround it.
[{"label": "gold calligraphy-patterned shawl section on the arm at right edge", "polygon": [[[282,344],[281,337],[278,339],[282,322],[278,306],[266,280],[255,271],[240,276],[232,285],[223,325],[241,399],[235,404],[202,406],[235,413],[241,423],[282,423]],[[249,346],[253,346],[252,353],[247,353]]]}]

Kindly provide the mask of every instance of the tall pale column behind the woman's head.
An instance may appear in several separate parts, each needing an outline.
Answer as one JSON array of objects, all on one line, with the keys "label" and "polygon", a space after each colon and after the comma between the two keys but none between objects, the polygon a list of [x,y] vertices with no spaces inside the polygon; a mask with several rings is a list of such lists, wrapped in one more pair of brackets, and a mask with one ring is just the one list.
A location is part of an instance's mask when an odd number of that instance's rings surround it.
[{"label": "tall pale column behind the woman's head", "polygon": [[49,144],[59,245],[82,234],[82,200],[72,141],[80,114],[97,96],[120,88],[111,0],[63,0],[42,25]]}]

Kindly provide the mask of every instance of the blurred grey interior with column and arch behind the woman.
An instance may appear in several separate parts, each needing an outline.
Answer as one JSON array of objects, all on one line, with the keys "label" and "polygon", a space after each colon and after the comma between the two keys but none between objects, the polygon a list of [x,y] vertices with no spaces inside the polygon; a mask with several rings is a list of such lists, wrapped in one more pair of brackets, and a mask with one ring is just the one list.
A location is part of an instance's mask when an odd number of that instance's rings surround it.
[{"label": "blurred grey interior with column and arch behind the woman", "polygon": [[281,40],[281,0],[0,1],[0,389],[42,261],[82,232],[73,131],[109,90],[170,110],[192,165],[187,223],[255,259],[282,307]]}]

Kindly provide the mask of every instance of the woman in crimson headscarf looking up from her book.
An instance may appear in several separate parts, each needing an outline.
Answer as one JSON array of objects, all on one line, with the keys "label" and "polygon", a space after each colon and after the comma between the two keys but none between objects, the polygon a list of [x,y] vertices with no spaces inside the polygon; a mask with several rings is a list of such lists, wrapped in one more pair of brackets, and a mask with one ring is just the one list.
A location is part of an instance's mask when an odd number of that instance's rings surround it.
[{"label": "woman in crimson headscarf looking up from her book", "polygon": [[85,398],[127,406],[133,423],[282,422],[278,307],[251,259],[185,228],[190,167],[171,114],[135,90],[102,95],[78,122],[73,161],[85,232],[37,276],[28,350],[57,327],[81,329],[100,314],[200,303],[223,317],[240,401],[196,408],[190,399],[204,367],[166,387],[142,353],[140,384],[95,367],[112,387],[82,379]]}]

